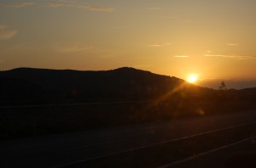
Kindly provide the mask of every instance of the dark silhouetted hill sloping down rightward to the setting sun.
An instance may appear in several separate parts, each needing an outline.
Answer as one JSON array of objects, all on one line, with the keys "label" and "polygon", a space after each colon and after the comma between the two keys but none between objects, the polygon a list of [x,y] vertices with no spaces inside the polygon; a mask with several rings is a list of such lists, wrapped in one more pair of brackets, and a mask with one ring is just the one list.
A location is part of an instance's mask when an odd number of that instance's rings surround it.
[{"label": "dark silhouetted hill sloping down rightward to the setting sun", "polygon": [[2,98],[44,102],[150,99],[185,83],[176,77],[126,67],[106,71],[18,68],[1,71],[0,80]]}]

